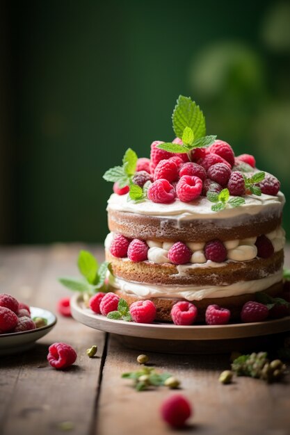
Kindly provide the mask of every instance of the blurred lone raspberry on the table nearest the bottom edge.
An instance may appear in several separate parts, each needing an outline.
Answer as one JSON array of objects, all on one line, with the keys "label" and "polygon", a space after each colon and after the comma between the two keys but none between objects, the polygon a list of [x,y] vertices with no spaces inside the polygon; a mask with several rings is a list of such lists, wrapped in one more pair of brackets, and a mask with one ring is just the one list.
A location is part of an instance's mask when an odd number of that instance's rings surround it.
[{"label": "blurred lone raspberry on the table nearest the bottom edge", "polygon": [[184,427],[192,414],[191,404],[181,394],[172,395],[164,400],[160,411],[163,420],[172,427]]}]

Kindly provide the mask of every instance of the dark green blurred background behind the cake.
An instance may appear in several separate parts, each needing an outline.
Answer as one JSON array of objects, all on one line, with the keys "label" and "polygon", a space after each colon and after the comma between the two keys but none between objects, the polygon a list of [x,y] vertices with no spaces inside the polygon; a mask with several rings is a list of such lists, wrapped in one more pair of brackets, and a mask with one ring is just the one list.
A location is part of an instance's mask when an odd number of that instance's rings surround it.
[{"label": "dark green blurred background behind the cake", "polygon": [[0,28],[1,243],[102,242],[102,174],[172,139],[179,94],[290,196],[289,3],[12,0]]}]

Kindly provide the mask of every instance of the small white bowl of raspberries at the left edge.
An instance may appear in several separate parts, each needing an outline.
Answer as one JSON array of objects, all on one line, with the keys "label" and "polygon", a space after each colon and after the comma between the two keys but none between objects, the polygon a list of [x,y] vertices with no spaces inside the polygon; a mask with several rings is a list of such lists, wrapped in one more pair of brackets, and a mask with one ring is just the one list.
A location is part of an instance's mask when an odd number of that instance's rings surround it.
[{"label": "small white bowl of raspberries at the left edge", "polygon": [[56,316],[0,293],[0,355],[24,352],[56,325]]}]

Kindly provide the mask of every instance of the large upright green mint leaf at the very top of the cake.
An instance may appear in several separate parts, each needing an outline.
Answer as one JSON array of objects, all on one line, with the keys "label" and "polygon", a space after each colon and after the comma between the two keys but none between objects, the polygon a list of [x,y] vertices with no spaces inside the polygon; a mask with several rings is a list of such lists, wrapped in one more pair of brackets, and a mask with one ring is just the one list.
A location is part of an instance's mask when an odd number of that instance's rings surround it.
[{"label": "large upright green mint leaf at the very top of the cake", "polygon": [[[182,138],[184,129],[190,127],[195,139],[205,136],[205,118],[200,107],[190,97],[179,95],[172,114],[173,130],[177,138]],[[175,152],[175,151],[172,151]]]}]

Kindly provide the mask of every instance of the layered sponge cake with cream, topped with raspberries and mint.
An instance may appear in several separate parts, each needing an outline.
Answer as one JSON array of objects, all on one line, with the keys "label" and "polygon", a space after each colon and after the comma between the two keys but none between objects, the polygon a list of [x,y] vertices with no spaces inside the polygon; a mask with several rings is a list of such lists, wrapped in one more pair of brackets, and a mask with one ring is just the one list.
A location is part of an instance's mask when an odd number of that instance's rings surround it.
[{"label": "layered sponge cake with cream, topped with raspberries and mint", "polygon": [[104,175],[108,199],[109,286],[129,304],[151,299],[156,320],[172,321],[185,300],[204,320],[207,306],[239,319],[255,293],[282,291],[284,195],[249,154],[206,136],[199,106],[180,96],[172,115],[177,138],[154,141],[150,159],[128,149]]}]

